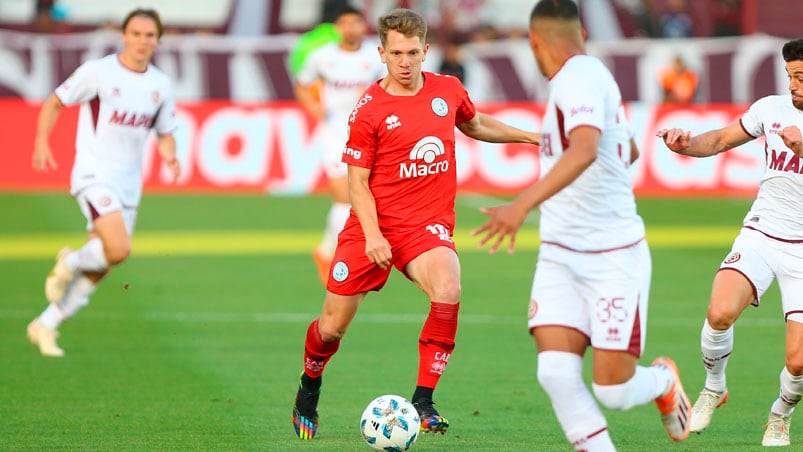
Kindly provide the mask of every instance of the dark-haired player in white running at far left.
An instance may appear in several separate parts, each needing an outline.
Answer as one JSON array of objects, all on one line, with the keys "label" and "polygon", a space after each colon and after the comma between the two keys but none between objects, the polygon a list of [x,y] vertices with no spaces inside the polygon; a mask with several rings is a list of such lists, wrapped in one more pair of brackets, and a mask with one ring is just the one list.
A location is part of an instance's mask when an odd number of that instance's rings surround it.
[{"label": "dark-haired player in white running at far left", "polygon": [[123,20],[123,49],[82,64],[47,98],[39,113],[32,164],[57,167],[48,138],[65,105],[81,104],[70,194],[87,219],[87,242],[63,248],[45,281],[50,305],[28,325],[28,339],[45,356],[63,356],[58,327],[89,303],[98,282],[131,252],[131,234],[142,193],[142,157],[153,129],[174,180],[176,112],[170,80],[150,64],[162,23],[152,9]]}]

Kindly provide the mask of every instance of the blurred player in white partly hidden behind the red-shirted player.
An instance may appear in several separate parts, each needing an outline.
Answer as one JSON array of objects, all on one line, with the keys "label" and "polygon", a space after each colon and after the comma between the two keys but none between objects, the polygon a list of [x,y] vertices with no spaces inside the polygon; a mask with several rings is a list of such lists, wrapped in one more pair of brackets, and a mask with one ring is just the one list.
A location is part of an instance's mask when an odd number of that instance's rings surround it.
[{"label": "blurred player in white partly hidden behind the red-shirted player", "polygon": [[[347,166],[340,161],[348,135],[348,117],[363,90],[385,75],[376,58],[376,44],[364,38],[366,23],[362,13],[350,6],[335,17],[337,42],[314,50],[298,74],[295,94],[298,101],[319,123],[318,137],[323,147],[321,163],[332,192],[332,207],[326,218],[321,243],[313,251],[318,276],[326,284],[337,235],[349,216]],[[317,86],[322,86],[320,92]]]}]

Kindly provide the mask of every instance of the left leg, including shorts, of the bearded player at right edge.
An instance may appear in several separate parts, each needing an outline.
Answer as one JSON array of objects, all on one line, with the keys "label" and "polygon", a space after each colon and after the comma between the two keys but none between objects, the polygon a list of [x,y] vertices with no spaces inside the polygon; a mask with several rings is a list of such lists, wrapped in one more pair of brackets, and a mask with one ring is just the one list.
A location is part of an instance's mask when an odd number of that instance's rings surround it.
[{"label": "left leg, including shorts, of the bearded player at right edge", "polygon": [[700,334],[700,350],[706,371],[705,385],[692,408],[691,431],[711,424],[714,410],[728,400],[725,370],[733,352],[733,324],[751,303],[758,303],[774,279],[767,265],[767,239],[742,230],[720,266],[711,288],[708,312]]}]

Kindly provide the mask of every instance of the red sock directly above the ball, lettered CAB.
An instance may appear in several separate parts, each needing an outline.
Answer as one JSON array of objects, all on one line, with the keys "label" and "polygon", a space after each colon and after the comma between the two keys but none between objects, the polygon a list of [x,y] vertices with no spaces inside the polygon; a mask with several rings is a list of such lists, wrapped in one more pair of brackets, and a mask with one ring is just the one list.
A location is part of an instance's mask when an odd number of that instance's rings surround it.
[{"label": "red sock directly above the ball, lettered CAB", "polygon": [[432,301],[429,316],[418,338],[418,382],[416,386],[435,388],[446,369],[457,334],[457,311],[460,303]]}]

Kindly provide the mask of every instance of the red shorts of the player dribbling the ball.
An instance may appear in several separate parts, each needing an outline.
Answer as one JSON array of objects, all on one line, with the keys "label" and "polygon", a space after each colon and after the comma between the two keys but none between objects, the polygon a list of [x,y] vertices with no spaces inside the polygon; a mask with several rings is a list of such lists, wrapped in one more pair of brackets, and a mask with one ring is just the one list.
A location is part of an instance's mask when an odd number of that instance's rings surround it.
[{"label": "red shorts of the player dribbling the ball", "polygon": [[[457,252],[451,231],[442,225],[424,225],[399,233],[385,234],[393,253],[386,269],[374,264],[365,254],[365,236],[358,221],[350,221],[338,236],[326,289],[338,295],[356,295],[380,290],[390,276],[391,267],[404,273],[404,267],[421,254],[445,246]],[[409,276],[408,276],[409,278]]]}]

